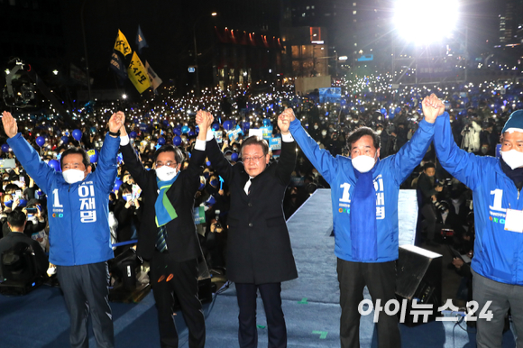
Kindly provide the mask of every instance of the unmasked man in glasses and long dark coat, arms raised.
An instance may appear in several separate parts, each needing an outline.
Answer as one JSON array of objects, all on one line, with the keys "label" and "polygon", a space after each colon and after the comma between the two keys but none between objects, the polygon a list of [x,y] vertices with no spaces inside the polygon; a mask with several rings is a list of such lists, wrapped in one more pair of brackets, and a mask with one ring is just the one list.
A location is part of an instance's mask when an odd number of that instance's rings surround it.
[{"label": "unmasked man in glasses and long dark coat, arms raised", "polygon": [[[212,124],[213,116],[201,112],[197,124]],[[231,192],[228,216],[227,276],[234,281],[240,307],[238,340],[241,348],[257,347],[256,290],[260,290],[269,347],[287,347],[287,329],[281,309],[281,282],[298,278],[283,216],[283,197],[296,164],[296,143],[289,133],[289,118],[278,119],[282,142],[280,160],[269,164],[267,142],[256,137],[243,141],[242,161],[231,165],[220,151],[212,133],[207,136],[206,154]]]}]

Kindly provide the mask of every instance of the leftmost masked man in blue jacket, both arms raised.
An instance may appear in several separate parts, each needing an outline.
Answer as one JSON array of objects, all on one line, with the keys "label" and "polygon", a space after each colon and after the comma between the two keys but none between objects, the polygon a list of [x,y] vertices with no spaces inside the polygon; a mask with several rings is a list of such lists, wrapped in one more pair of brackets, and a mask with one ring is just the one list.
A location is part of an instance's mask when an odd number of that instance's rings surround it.
[{"label": "leftmost masked man in blue jacket, both arms raised", "polygon": [[91,172],[83,149],[62,153],[62,173],[50,168],[18,133],[14,117],[4,112],[2,123],[7,142],[23,168],[47,196],[50,224],[50,262],[68,307],[71,347],[88,347],[87,322],[93,315],[98,347],[115,346],[111,307],[108,302],[107,260],[114,257],[108,224],[108,201],[116,178],[116,154],[124,113],[113,114],[109,135],[100,151],[98,166]]}]

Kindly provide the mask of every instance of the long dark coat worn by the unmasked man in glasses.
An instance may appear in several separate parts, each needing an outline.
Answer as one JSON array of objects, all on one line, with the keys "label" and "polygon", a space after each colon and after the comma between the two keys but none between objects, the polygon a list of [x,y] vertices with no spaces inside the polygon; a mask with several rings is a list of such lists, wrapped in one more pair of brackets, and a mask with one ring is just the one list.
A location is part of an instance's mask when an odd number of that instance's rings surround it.
[{"label": "long dark coat worn by the unmasked man in glasses", "polygon": [[268,164],[252,179],[249,196],[243,190],[249,179],[243,163],[231,166],[216,140],[206,143],[206,152],[231,191],[227,218],[228,279],[266,284],[298,278],[282,208],[296,165],[296,142],[281,143],[280,160]]}]

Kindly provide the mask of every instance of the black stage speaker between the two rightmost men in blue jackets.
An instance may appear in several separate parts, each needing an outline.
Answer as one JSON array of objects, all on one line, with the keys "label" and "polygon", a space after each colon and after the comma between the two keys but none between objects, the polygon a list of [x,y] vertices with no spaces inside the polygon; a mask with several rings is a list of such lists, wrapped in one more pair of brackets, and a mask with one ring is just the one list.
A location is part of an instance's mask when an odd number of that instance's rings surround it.
[{"label": "black stage speaker between the two rightmost men in blue jackets", "polygon": [[[427,321],[436,320],[440,316],[437,307],[441,302],[441,270],[443,256],[430,252],[414,245],[401,245],[399,247],[399,259],[396,267],[396,298],[403,306],[403,299],[407,299],[407,307],[401,307],[401,313],[405,314],[403,324],[415,326]],[[413,307],[413,302],[417,305]],[[420,306],[421,305],[421,306]],[[431,305],[428,320],[420,312],[427,311],[427,305]],[[417,313],[417,316],[415,315]]]}]

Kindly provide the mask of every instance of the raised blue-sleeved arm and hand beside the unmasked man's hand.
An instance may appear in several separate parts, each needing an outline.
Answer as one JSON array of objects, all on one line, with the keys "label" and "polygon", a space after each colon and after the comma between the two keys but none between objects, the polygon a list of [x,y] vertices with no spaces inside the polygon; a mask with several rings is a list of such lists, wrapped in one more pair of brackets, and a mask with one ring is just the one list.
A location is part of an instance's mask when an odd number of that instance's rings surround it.
[{"label": "raised blue-sleeved arm and hand beside the unmasked man's hand", "polygon": [[337,161],[330,154],[329,151],[319,148],[317,142],[305,132],[305,129],[299,123],[299,120],[294,116],[292,109],[286,109],[284,113],[289,113],[289,131],[298,142],[298,145],[310,160],[312,165],[321,173],[327,182],[331,182],[335,176],[337,169]]}]

